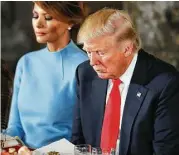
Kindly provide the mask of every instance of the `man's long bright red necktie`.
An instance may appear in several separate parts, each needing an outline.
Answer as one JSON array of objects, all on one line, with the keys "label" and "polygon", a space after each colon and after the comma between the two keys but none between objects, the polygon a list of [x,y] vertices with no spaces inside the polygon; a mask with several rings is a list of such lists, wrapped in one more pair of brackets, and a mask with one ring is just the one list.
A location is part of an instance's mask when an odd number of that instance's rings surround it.
[{"label": "man's long bright red necktie", "polygon": [[113,87],[106,105],[101,133],[101,148],[105,151],[116,148],[120,125],[121,95],[119,85],[121,81],[118,79],[112,80],[112,82]]}]

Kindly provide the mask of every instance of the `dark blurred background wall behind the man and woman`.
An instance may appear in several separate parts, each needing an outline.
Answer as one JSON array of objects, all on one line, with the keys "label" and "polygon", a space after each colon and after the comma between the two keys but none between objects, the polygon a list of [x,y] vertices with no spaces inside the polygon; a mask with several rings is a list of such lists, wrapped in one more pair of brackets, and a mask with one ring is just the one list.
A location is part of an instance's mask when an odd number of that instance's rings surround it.
[{"label": "dark blurred background wall behind the man and woman", "polygon": [[[140,33],[143,49],[179,69],[179,2],[86,1],[90,13],[103,7],[127,10]],[[17,61],[41,48],[32,30],[32,2],[1,2],[1,57],[14,73]],[[76,40],[76,32],[72,37]]]}]

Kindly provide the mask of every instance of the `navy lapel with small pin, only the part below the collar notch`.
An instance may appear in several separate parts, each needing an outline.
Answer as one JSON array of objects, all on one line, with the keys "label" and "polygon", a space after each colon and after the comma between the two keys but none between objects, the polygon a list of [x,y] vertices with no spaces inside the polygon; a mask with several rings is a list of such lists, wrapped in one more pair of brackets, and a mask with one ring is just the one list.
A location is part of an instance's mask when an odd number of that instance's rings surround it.
[{"label": "navy lapel with small pin, only the part below the collar notch", "polygon": [[126,103],[124,107],[121,136],[120,136],[120,153],[126,155],[130,142],[131,130],[143,103],[143,100],[147,94],[147,89],[137,84],[131,84],[128,90]]}]

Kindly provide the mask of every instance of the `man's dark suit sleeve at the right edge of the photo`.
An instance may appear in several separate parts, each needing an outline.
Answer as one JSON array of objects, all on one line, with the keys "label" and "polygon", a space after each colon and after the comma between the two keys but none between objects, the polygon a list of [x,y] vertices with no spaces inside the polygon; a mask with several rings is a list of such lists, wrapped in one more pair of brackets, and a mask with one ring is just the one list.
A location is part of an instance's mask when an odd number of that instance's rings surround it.
[{"label": "man's dark suit sleeve at the right edge of the photo", "polygon": [[179,75],[170,79],[160,95],[153,147],[156,155],[179,155]]}]

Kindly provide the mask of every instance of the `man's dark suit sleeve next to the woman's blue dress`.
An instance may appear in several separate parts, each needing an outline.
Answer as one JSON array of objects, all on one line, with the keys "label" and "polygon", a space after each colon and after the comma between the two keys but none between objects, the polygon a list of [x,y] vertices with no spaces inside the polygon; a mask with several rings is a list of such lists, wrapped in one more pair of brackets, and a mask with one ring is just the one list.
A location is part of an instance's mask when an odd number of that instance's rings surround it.
[{"label": "man's dark suit sleeve next to the woman's blue dress", "polygon": [[77,104],[74,109],[73,125],[72,125],[72,138],[71,142],[75,145],[85,144],[82,124],[81,124],[81,114],[80,114],[80,80],[79,80],[79,66],[76,70],[76,81],[77,81]]}]

